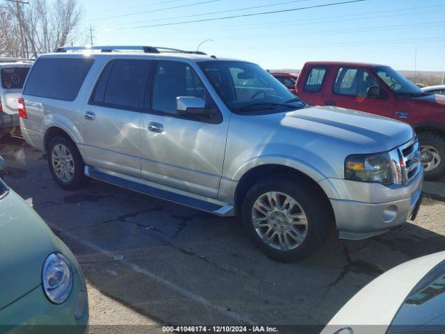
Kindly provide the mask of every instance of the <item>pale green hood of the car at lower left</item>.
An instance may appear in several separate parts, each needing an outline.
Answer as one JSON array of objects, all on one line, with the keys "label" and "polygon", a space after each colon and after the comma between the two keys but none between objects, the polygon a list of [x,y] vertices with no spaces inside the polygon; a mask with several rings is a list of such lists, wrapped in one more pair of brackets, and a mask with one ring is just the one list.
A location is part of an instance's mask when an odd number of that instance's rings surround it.
[{"label": "pale green hood of the car at lower left", "polygon": [[41,284],[56,237],[14,191],[0,200],[0,310]]}]

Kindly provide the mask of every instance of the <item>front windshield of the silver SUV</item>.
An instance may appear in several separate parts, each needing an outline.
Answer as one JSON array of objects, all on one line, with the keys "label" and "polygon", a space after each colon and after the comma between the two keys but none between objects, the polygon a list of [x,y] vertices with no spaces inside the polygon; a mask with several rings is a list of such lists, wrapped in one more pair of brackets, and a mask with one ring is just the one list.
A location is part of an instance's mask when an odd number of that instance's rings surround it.
[{"label": "front windshield of the silver SUV", "polygon": [[259,65],[241,61],[200,63],[213,88],[235,113],[277,113],[305,103]]}]

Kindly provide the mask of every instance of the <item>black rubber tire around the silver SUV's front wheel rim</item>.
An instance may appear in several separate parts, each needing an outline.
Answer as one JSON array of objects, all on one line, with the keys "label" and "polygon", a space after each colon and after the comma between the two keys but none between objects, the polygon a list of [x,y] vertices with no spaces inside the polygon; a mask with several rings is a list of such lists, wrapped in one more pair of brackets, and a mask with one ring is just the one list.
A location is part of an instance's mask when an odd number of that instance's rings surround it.
[{"label": "black rubber tire around the silver SUV's front wheel rim", "polygon": [[[276,191],[291,196],[307,217],[307,232],[302,243],[292,250],[278,250],[266,244],[252,221],[254,203],[264,193]],[[245,231],[254,244],[268,257],[280,262],[296,262],[312,255],[326,241],[332,225],[332,209],[325,194],[312,182],[295,175],[277,175],[254,184],[246,194],[241,211]]]}]

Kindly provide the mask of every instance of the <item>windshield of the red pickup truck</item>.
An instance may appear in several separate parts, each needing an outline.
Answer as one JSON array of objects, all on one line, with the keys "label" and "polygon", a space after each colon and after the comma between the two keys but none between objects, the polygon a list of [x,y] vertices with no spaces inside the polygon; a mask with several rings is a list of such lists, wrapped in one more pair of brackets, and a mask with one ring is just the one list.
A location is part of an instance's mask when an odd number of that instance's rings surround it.
[{"label": "windshield of the red pickup truck", "polygon": [[402,74],[393,70],[389,66],[374,67],[375,73],[385,81],[385,84],[398,96],[424,96],[428,95]]}]

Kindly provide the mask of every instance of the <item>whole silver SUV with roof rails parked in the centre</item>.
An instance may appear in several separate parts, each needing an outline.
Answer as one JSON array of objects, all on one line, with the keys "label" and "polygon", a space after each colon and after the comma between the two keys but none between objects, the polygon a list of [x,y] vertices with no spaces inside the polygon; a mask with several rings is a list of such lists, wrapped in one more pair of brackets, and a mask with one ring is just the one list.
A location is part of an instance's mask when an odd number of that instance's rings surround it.
[{"label": "whole silver SUV with roof rails parked in the centre", "polygon": [[331,225],[363,239],[416,215],[423,171],[410,125],[309,107],[245,61],[154,47],[58,51],[38,58],[19,104],[24,138],[47,153],[63,189],[93,178],[238,215],[281,261],[314,252]]}]

